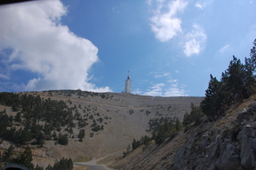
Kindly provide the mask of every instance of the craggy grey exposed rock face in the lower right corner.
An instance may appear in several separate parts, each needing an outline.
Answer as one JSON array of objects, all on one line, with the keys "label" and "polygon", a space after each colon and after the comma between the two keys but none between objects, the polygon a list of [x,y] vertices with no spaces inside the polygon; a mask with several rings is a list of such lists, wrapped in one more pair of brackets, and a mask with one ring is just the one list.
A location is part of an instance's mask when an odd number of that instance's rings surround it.
[{"label": "craggy grey exposed rock face in the lower right corner", "polygon": [[[170,169],[244,170],[256,167],[256,103],[220,122],[205,123],[176,152]],[[189,132],[188,132],[189,133]]]}]

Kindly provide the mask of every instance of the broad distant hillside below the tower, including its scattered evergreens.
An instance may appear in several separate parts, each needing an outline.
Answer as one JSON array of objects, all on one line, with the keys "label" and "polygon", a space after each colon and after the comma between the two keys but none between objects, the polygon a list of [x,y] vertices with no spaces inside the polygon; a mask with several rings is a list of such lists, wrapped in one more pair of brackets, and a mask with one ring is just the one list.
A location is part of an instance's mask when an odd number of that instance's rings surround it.
[{"label": "broad distant hillside below the tower, including its scattered evergreens", "polygon": [[[133,139],[151,135],[147,131],[150,119],[168,117],[182,121],[184,114],[190,112],[190,104],[200,104],[204,99],[81,90],[13,93],[10,98],[4,95],[8,93],[0,94],[0,111],[2,116],[8,116],[6,132],[12,129],[13,134],[18,134],[20,129],[22,134],[28,129],[28,140],[18,140],[21,145],[16,144],[15,150],[20,150],[18,146],[31,145],[36,164],[43,166],[63,157],[88,161],[122,156]],[[40,143],[38,134],[44,136],[44,143]],[[11,142],[17,143],[17,139],[8,138],[6,134],[1,138],[3,150],[8,149]]]}]

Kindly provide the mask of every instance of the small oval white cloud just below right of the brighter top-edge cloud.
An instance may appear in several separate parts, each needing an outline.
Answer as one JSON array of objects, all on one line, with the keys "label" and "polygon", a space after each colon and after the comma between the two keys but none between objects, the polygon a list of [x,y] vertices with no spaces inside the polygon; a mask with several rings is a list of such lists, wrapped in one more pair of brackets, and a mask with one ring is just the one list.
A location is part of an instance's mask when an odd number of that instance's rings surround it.
[{"label": "small oval white cloud just below right of the brighter top-edge cloud", "polygon": [[187,35],[187,42],[185,42],[184,50],[186,56],[200,53],[204,49],[204,42],[206,41],[206,35],[204,29],[198,25],[193,25],[193,30]]}]

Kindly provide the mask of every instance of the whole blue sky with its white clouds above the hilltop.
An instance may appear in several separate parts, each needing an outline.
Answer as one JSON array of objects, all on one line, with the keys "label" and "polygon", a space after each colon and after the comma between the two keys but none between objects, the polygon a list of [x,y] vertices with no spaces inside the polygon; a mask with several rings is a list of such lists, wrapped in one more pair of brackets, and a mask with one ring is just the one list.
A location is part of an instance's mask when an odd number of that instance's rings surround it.
[{"label": "whole blue sky with its white clouds above the hilltop", "polygon": [[249,57],[255,0],[47,0],[0,7],[0,91],[204,96]]}]

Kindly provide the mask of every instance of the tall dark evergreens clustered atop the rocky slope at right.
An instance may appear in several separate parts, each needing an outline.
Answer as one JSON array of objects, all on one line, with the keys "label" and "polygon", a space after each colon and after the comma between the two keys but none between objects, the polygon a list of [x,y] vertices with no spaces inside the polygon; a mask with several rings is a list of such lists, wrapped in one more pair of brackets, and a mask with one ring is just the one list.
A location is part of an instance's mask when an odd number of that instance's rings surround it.
[{"label": "tall dark evergreens clustered atop the rocky slope at right", "polygon": [[220,81],[211,74],[205,98],[201,103],[203,112],[210,120],[220,119],[231,104],[240,103],[255,93],[256,81],[253,73],[256,69],[256,39],[253,45],[251,58],[245,58],[245,64],[233,56],[228,69],[221,74]]}]

